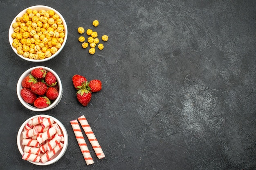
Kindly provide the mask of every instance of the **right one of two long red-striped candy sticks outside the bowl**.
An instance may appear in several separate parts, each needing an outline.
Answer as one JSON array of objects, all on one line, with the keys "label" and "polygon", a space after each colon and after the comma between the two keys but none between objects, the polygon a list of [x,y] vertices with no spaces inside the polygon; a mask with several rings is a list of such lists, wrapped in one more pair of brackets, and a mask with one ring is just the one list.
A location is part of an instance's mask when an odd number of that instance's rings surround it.
[{"label": "right one of two long red-striped candy sticks outside the bowl", "polygon": [[88,140],[92,144],[92,148],[94,149],[97,157],[99,159],[102,159],[105,157],[103,150],[101,149],[101,146],[99,145],[98,140],[96,139],[90,125],[88,124],[88,121],[86,120],[85,116],[80,116],[78,118],[83,130],[85,131],[85,135],[88,137]]}]

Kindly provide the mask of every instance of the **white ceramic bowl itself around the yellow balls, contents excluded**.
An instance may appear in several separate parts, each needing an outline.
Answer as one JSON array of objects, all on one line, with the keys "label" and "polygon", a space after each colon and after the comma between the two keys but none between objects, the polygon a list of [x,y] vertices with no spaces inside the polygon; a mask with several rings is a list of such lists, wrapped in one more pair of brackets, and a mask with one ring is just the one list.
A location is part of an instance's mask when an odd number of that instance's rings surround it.
[{"label": "white ceramic bowl itself around the yellow balls, contents excluded", "polygon": [[[17,49],[12,46],[13,38],[11,37],[11,34],[14,32],[12,25],[13,25],[14,22],[16,22],[16,18],[17,18],[17,17],[22,17],[22,15],[23,15],[24,13],[26,13],[27,9],[37,10],[38,12],[39,12],[40,10],[45,10],[45,11],[53,10],[53,11],[55,12],[55,14],[58,14],[58,15],[59,15],[59,18],[61,18],[62,24],[63,24],[63,26],[64,26],[64,33],[65,33],[64,41],[63,41],[63,43],[62,43],[62,45],[61,45],[61,48],[59,48],[58,51],[57,51],[55,54],[52,54],[51,57],[48,57],[48,58],[45,58],[45,59],[39,59],[39,60],[25,58],[25,57],[23,57],[22,55],[19,55],[19,54],[17,53]],[[26,8],[26,9],[24,9],[23,11],[21,11],[21,12],[13,19],[13,21],[11,22],[11,26],[10,26],[10,28],[9,28],[9,43],[10,43],[10,45],[11,45],[11,48],[13,49],[13,51],[14,51],[19,57],[21,57],[22,59],[27,60],[27,61],[43,62],[43,61],[48,61],[48,60],[50,60],[50,59],[56,57],[56,55],[58,55],[58,54],[61,52],[61,50],[64,48],[66,41],[67,41],[67,23],[65,22],[64,17],[63,17],[63,16],[61,15],[61,13],[59,13],[57,10],[55,10],[55,9],[53,9],[53,8],[51,8],[51,7],[43,6],[43,5],[36,5],[36,6],[28,7],[28,8]]]}]

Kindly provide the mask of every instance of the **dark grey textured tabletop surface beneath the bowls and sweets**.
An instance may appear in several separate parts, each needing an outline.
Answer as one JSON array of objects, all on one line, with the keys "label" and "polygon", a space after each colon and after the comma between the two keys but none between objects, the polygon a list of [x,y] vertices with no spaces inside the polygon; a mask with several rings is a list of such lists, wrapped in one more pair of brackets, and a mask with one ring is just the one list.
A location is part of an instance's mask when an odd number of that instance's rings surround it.
[{"label": "dark grey textured tabletop surface beneath the bowls and sweets", "polygon": [[[0,169],[256,169],[256,1],[110,0],[40,3],[68,25],[63,51],[30,63],[12,51],[9,26],[38,1],[0,1]],[[92,26],[93,20],[99,26]],[[77,28],[109,40],[94,55],[81,48]],[[63,84],[57,107],[43,114],[66,127],[65,155],[50,166],[21,159],[20,125],[41,114],[21,105],[20,75],[33,66],[55,70]],[[100,79],[87,107],[71,78]],[[85,115],[103,151],[86,166],[70,120]],[[87,140],[86,140],[87,141]]]}]

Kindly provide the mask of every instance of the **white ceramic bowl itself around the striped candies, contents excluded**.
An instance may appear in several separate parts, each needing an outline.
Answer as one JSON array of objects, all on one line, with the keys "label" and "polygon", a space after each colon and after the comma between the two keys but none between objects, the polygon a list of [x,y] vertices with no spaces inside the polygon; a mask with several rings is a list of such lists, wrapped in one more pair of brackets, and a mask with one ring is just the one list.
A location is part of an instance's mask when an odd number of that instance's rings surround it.
[{"label": "white ceramic bowl itself around the striped candies, contents excluded", "polygon": [[29,161],[33,164],[36,164],[36,165],[41,165],[41,166],[45,166],[45,165],[50,165],[52,163],[55,163],[56,161],[58,161],[59,159],[61,159],[61,157],[65,154],[66,150],[67,150],[67,144],[68,144],[68,136],[67,136],[67,130],[65,129],[65,126],[63,126],[63,124],[57,120],[56,118],[52,117],[52,116],[49,116],[49,115],[36,115],[36,116],[33,116],[29,119],[27,119],[21,126],[20,126],[20,129],[18,131],[18,135],[17,135],[17,146],[18,146],[18,150],[20,151],[20,154],[23,155],[24,152],[24,146],[22,145],[22,131],[24,130],[24,127],[25,125],[27,124],[27,122],[32,119],[32,118],[36,118],[38,116],[41,116],[42,118],[49,118],[51,117],[55,123],[58,124],[58,126],[60,127],[61,129],[61,132],[64,136],[64,145],[63,147],[47,162],[45,163],[42,163],[42,162],[33,162],[33,161]]}]

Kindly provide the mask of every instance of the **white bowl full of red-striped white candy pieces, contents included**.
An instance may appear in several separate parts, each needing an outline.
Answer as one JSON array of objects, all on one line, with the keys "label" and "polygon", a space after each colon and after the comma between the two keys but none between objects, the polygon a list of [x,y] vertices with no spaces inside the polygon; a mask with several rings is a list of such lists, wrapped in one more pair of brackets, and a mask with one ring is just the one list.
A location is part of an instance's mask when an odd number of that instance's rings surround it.
[{"label": "white bowl full of red-striped white candy pieces, contents included", "polygon": [[67,130],[59,120],[49,115],[36,115],[27,119],[20,126],[17,135],[22,159],[40,166],[50,165],[61,159],[67,150],[67,144]]}]

